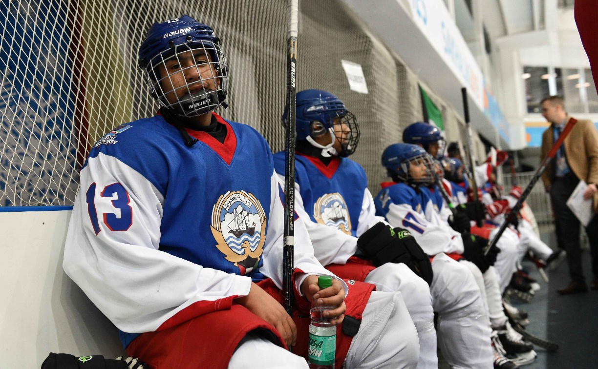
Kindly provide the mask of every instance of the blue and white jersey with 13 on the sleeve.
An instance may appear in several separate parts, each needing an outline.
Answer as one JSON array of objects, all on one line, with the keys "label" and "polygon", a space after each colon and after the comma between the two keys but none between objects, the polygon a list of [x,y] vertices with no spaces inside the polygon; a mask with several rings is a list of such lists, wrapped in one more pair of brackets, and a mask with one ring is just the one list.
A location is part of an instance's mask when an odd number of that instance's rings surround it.
[{"label": "blue and white jersey with 13 on the sleeve", "polygon": [[[252,281],[282,286],[282,188],[271,151],[253,128],[215,116],[227,127],[224,143],[188,130],[199,141],[185,146],[157,115],[106,134],[81,170],[63,267],[129,332],[125,346],[137,333],[227,309]],[[301,219],[295,240],[295,268],[331,274]]]}]

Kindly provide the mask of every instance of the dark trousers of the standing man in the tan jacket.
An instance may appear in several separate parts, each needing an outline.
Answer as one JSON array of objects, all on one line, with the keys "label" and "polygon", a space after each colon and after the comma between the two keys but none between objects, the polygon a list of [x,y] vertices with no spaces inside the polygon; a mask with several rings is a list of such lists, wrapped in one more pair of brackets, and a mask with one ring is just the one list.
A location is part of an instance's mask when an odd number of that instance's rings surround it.
[{"label": "dark trousers of the standing man in the tan jacket", "polygon": [[[557,223],[567,251],[571,281],[585,283],[581,266],[581,247],[579,245],[580,223],[566,204],[567,199],[569,199],[578,183],[579,179],[572,173],[562,178],[555,178],[550,187],[550,199],[553,202]],[[594,279],[598,280],[598,216],[594,216],[588,226],[585,227],[585,232],[590,240],[592,272],[594,273]]]}]

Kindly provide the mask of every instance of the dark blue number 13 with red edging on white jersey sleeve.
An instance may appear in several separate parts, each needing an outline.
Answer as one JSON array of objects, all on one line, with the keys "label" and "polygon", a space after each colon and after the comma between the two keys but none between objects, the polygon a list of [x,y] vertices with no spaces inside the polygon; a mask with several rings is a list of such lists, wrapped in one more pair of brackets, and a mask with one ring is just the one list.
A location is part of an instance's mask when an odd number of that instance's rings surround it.
[{"label": "dark blue number 13 with red edging on white jersey sleeve", "polygon": [[[112,183],[108,184],[108,186],[104,187],[102,192],[100,192],[100,196],[103,198],[112,198],[116,196],[115,199],[112,199],[112,207],[114,209],[120,210],[120,217],[117,216],[115,213],[102,213],[103,215],[103,222],[108,227],[109,230],[127,230],[133,225],[133,209],[129,206],[129,193],[127,190],[124,189],[123,185],[120,183]],[[87,202],[87,212],[89,213],[89,219],[91,220],[91,225],[93,226],[94,232],[96,235],[100,233],[100,224],[97,218],[97,210],[96,210],[96,183],[91,183],[89,189],[86,192],[86,202]]]}]

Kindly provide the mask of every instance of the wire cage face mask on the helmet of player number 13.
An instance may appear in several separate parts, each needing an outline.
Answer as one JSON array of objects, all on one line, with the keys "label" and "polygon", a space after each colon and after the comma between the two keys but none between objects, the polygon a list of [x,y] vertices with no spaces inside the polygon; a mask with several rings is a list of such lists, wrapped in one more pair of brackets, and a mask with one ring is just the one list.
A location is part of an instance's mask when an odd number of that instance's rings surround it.
[{"label": "wire cage face mask on the helmet of player number 13", "polygon": [[176,45],[145,69],[152,96],[175,115],[203,115],[224,103],[228,76],[219,45],[208,41]]}]

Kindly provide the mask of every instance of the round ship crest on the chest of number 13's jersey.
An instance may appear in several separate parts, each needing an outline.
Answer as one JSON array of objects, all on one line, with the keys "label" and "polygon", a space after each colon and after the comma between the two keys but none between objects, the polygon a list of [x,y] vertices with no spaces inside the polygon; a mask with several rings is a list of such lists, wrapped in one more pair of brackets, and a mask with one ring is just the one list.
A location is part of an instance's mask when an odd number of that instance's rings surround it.
[{"label": "round ship crest on the chest of number 13's jersey", "polygon": [[266,241],[266,213],[249,192],[228,191],[212,209],[212,235],[224,259],[239,267],[240,275],[257,269]]}]

